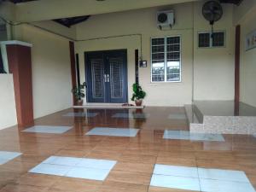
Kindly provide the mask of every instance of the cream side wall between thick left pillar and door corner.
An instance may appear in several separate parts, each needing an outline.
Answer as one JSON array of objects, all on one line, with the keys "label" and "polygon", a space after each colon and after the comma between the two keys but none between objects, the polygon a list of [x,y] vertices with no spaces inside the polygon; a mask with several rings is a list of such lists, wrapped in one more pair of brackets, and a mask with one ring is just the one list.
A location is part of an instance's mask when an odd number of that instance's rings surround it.
[{"label": "cream side wall between thick left pillar and door corner", "polygon": [[70,108],[73,100],[68,40],[33,26],[18,27],[17,40],[32,44],[34,118]]}]

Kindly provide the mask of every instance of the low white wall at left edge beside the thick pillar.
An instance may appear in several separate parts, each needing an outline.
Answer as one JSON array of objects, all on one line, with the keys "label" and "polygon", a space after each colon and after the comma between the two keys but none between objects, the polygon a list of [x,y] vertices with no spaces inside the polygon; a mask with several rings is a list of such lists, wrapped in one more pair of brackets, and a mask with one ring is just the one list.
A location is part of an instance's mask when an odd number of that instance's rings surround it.
[{"label": "low white wall at left edge beside the thick pillar", "polygon": [[0,74],[0,130],[17,124],[12,74]]}]

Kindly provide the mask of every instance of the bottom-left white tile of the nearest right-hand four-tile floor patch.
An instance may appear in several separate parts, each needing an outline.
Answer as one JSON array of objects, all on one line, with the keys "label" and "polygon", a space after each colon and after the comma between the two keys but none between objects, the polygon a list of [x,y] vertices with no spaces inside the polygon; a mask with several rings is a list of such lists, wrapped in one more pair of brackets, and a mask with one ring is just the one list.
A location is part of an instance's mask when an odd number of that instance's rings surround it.
[{"label": "bottom-left white tile of the nearest right-hand four-tile floor patch", "polygon": [[150,185],[162,188],[200,191],[199,178],[192,177],[177,177],[153,174]]}]

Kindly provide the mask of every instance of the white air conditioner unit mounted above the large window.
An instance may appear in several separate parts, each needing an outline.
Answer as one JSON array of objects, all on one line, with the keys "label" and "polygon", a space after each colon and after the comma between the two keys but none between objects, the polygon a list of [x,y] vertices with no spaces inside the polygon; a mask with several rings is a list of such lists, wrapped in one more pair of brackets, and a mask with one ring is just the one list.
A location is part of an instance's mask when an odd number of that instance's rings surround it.
[{"label": "white air conditioner unit mounted above the large window", "polygon": [[172,29],[172,26],[175,23],[174,11],[173,10],[159,11],[157,12],[156,20],[157,20],[157,26],[160,28],[160,30]]}]

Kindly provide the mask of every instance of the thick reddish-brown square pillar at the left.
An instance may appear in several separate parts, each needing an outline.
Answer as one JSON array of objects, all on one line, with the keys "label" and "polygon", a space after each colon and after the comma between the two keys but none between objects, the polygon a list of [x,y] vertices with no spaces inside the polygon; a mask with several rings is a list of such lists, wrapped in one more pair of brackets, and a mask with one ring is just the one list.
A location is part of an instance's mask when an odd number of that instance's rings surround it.
[{"label": "thick reddish-brown square pillar at the left", "polygon": [[9,71],[13,73],[15,103],[19,128],[34,125],[32,102],[31,48],[18,44],[6,45]]}]

